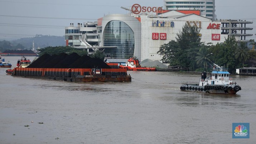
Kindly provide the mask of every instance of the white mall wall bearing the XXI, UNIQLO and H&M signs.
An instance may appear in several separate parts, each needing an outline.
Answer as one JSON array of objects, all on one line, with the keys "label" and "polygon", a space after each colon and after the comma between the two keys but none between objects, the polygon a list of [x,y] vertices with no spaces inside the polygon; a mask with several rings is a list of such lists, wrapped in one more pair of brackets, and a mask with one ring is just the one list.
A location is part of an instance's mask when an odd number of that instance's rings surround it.
[{"label": "white mall wall bearing the XXI, UNIQLO and H&M signs", "polygon": [[[198,24],[200,28],[200,34],[202,34],[202,42],[213,43],[216,45],[217,43],[224,42],[225,38],[221,36],[221,28],[219,29],[207,29],[209,24],[219,24],[221,22],[212,22],[210,19],[203,18],[197,15],[187,16],[187,18],[182,18],[179,20],[176,19],[162,19],[162,18],[148,18],[146,15],[141,15],[141,60],[151,59],[151,60],[161,60],[161,56],[157,54],[159,48],[163,44],[169,43],[171,40],[176,40],[175,37],[179,30],[182,30],[182,27],[186,23],[190,23],[190,25],[194,25],[194,22]],[[174,27],[156,27],[152,26],[152,22],[154,21],[165,21],[165,22],[174,22]],[[193,21],[192,21],[193,20]],[[187,22],[188,21],[188,22]],[[152,33],[166,33],[166,40],[153,40]],[[212,34],[218,34],[220,36],[219,40],[212,40]]]}]

